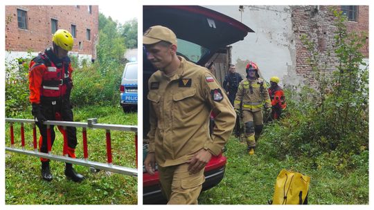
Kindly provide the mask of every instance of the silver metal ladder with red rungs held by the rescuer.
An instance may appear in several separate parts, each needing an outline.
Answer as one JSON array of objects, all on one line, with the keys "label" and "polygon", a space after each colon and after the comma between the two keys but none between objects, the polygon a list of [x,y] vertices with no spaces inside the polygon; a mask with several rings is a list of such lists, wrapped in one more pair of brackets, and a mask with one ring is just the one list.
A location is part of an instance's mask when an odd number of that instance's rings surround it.
[{"label": "silver metal ladder with red rungs held by the rescuer", "polygon": [[[35,126],[35,120],[27,120],[27,119],[15,119],[15,118],[6,118],[6,122],[10,123],[10,144],[11,146],[6,146],[6,151],[14,152],[14,153],[21,153],[24,155],[31,155],[39,158],[47,158],[51,160],[56,160],[60,162],[68,162],[71,164],[78,164],[82,166],[90,167],[91,169],[101,169],[105,171],[112,171],[114,173],[121,173],[124,175],[132,175],[137,176],[138,170],[127,168],[124,166],[118,166],[112,164],[112,139],[110,131],[130,131],[135,133],[134,144],[135,144],[135,154],[136,154],[136,166],[138,165],[138,127],[137,126],[126,126],[126,125],[118,125],[118,124],[98,124],[97,119],[89,119],[87,122],[66,122],[66,121],[51,121],[48,120],[44,122],[47,126],[47,150],[48,153],[41,153],[37,149],[37,131]],[[21,124],[21,149],[15,148],[15,134],[14,134],[14,123]],[[24,132],[24,124],[33,124],[33,148],[34,151],[28,151],[25,149],[25,132]],[[53,155],[51,153],[51,125],[53,126],[62,126],[63,131],[62,135],[64,138],[64,146],[61,155]],[[79,127],[82,128],[82,138],[83,138],[83,157],[84,159],[78,158],[69,158],[68,156],[68,140],[66,135],[66,127]],[[88,153],[88,146],[87,146],[87,128],[98,128],[104,129],[106,131],[106,146],[107,146],[107,163],[102,162],[94,162],[88,160],[89,153]]]}]

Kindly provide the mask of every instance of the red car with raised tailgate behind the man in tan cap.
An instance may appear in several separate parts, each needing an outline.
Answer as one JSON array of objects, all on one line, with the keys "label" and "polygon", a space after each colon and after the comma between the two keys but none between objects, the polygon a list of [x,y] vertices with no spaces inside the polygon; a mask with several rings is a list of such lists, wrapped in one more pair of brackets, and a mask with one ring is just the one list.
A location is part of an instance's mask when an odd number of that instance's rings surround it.
[{"label": "red car with raised tailgate behind the man in tan cap", "polygon": [[[204,66],[220,49],[244,39],[253,32],[239,21],[201,6],[143,6],[143,31],[161,25],[173,30],[178,38],[178,55]],[[150,130],[148,79],[156,69],[143,50],[143,136]],[[143,160],[146,156],[145,144]],[[219,184],[224,178],[226,157],[213,156],[206,165],[203,191]],[[144,167],[143,167],[144,168]],[[159,175],[149,175],[143,169],[143,204],[165,204],[161,194]]]}]

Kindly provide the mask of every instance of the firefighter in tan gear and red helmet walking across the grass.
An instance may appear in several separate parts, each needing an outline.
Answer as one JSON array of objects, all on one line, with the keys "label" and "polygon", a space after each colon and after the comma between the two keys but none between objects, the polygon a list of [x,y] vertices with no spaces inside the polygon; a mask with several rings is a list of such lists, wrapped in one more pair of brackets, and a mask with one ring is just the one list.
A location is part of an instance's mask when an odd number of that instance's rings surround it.
[{"label": "firefighter in tan gear and red helmet walking across the grass", "polygon": [[245,70],[247,79],[242,80],[239,84],[234,108],[238,114],[242,108],[247,151],[249,155],[253,155],[263,127],[262,106],[265,103],[265,108],[270,109],[271,103],[267,85],[258,75],[258,66],[250,61]]}]

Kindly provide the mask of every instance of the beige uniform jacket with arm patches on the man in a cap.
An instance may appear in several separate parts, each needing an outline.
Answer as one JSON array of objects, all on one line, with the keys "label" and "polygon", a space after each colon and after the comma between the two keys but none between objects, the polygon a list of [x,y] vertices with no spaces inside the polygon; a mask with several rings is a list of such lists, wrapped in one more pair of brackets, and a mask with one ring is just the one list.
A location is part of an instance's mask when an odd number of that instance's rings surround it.
[{"label": "beige uniform jacket with arm patches on the man in a cap", "polygon": [[[149,80],[149,152],[160,166],[185,163],[200,149],[219,155],[235,125],[235,111],[224,90],[206,68],[179,57],[181,65],[167,77],[158,70]],[[217,113],[213,134],[209,116]]]}]

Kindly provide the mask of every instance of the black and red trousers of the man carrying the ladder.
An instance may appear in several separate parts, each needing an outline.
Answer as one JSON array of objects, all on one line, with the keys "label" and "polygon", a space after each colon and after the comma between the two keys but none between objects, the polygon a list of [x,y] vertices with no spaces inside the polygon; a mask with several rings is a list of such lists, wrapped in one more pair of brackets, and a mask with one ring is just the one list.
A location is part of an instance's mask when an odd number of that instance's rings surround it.
[{"label": "black and red trousers of the man carrying the ladder", "polygon": [[[71,111],[71,106],[69,102],[66,103],[56,103],[55,105],[50,103],[41,103],[42,114],[46,117],[47,120],[58,120],[58,121],[73,121],[73,111]],[[60,115],[60,116],[59,116]],[[60,117],[61,119],[56,119],[56,117]],[[42,135],[39,139],[39,150],[42,153],[48,153],[47,148],[47,126],[44,124],[40,124],[36,122],[37,127],[39,128],[40,135]],[[53,146],[53,142],[55,142],[55,126],[50,126],[51,131],[51,146]],[[57,126],[62,133],[62,127]],[[68,142],[68,154],[69,157],[75,158],[75,147],[77,146],[77,130],[75,127],[66,127],[66,136]],[[48,159],[41,158],[42,162],[48,161]]]}]

